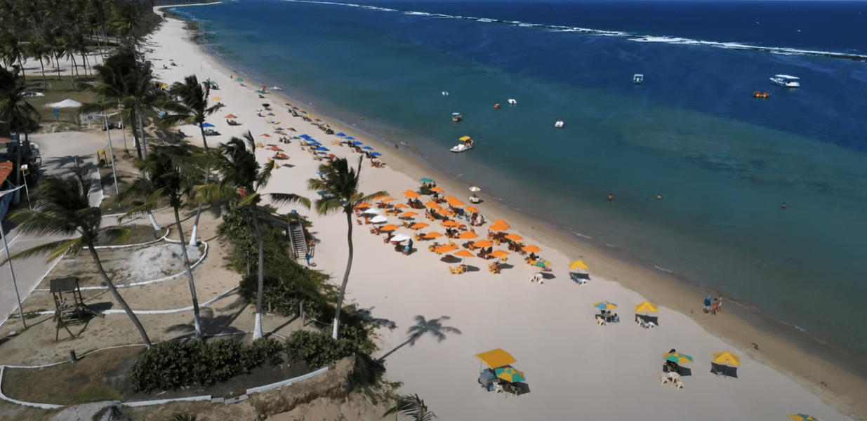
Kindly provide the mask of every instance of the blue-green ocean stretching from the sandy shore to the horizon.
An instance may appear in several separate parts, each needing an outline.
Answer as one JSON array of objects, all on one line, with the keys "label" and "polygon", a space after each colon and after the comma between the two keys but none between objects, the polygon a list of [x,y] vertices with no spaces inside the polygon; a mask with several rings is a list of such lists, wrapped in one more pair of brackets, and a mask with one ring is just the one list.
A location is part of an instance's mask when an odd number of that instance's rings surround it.
[{"label": "blue-green ocean stretching from the sandy shore to the horizon", "polygon": [[[174,11],[239,75],[864,359],[867,3],[244,0]],[[448,152],[463,135],[476,149]]]}]

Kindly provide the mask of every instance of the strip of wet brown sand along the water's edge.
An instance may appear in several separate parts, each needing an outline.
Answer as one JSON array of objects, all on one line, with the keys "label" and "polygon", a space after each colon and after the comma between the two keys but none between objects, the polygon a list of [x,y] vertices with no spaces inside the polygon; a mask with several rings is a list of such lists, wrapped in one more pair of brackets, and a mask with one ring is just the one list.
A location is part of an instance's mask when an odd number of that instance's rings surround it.
[{"label": "strip of wet brown sand along the water's edge", "polygon": [[[208,54],[201,44],[197,43],[196,46],[199,52],[212,62],[212,65],[224,73],[224,76],[234,71],[227,63],[221,62],[218,57]],[[272,92],[271,95],[277,95],[293,104],[297,103],[290,95],[283,92],[285,91]],[[420,176],[437,178],[440,186],[447,191],[466,190],[466,186],[463,186],[460,180],[438,171],[434,165],[423,159],[416,159],[412,156],[412,151],[407,153],[403,149],[397,149],[394,144],[388,144],[388,142],[384,142],[358,127],[331,119],[326,114],[320,113],[319,110],[316,113],[324,120],[328,120],[336,132],[349,133],[364,142],[380,146],[378,150],[383,155],[382,161],[386,162],[395,172],[400,172],[414,179],[418,179]],[[486,195],[483,194],[481,197],[486,198]],[[785,322],[774,321],[769,316],[763,317],[763,314],[746,307],[737,308],[733,306],[733,300],[729,298],[726,299],[725,304],[727,311],[714,316],[713,319],[707,319],[711,316],[705,314],[692,315],[695,310],[701,311],[703,295],[699,291],[702,288],[705,292],[708,291],[707,287],[698,282],[665,273],[661,269],[655,269],[652,262],[642,261],[635,256],[623,256],[628,254],[625,250],[604,249],[605,246],[603,245],[571,236],[553,225],[533,221],[518,210],[512,210],[505,204],[498,203],[497,200],[486,200],[478,207],[485,210],[489,220],[503,217],[512,223],[513,230],[540,240],[538,243],[544,244],[547,249],[557,250],[572,258],[584,259],[590,264],[594,277],[598,276],[606,281],[616,282],[623,288],[628,288],[648,298],[649,301],[654,301],[662,307],[686,315],[709,334],[726,340],[737,347],[741,353],[746,353],[751,358],[786,374],[787,377],[799,384],[807,386],[825,402],[841,409],[845,408],[844,412],[857,409],[858,412],[865,413],[864,409],[867,404],[863,398],[867,394],[864,392],[864,367],[855,367],[857,361],[854,360],[848,361],[849,364],[847,364],[847,361],[829,358],[827,354],[834,351],[830,349],[832,346],[824,345],[820,340],[813,339],[808,334],[797,333],[796,327],[787,326]],[[619,252],[616,253],[618,250]],[[566,281],[568,282],[568,280]],[[771,332],[766,332],[765,329]],[[759,344],[758,352],[751,346],[753,343]],[[801,347],[806,349],[801,349]],[[861,377],[859,378],[841,368],[841,365],[850,366]],[[828,379],[832,381],[827,388],[819,385],[819,382]]]}]

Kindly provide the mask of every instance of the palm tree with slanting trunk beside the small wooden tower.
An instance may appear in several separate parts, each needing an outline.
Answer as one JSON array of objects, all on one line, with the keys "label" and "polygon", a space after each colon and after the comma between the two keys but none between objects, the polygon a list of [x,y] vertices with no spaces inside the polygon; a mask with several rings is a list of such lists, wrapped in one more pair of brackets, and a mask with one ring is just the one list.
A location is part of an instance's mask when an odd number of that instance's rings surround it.
[{"label": "palm tree with slanting trunk beside the small wooden tower", "polygon": [[[49,175],[42,178],[39,182],[39,188],[36,190],[36,204],[33,210],[18,210],[11,216],[11,219],[20,223],[18,230],[25,234],[36,234],[37,236],[77,235],[77,237],[26,249],[16,253],[12,258],[48,254],[49,260],[53,260],[66,252],[76,253],[87,248],[96,263],[96,269],[100,273],[102,282],[106,284],[114,296],[114,301],[117,301],[121,308],[127,312],[127,316],[139,330],[145,346],[150,348],[151,340],[147,337],[145,327],[141,326],[141,322],[133,313],[133,309],[129,308],[127,301],[124,301],[117,288],[114,287],[114,283],[108,279],[108,274],[102,268],[100,256],[96,253],[95,243],[101,231],[102,211],[99,207],[90,205],[88,195],[92,188],[93,180],[88,178],[84,170],[79,167],[76,167],[73,173],[66,177]],[[109,229],[108,231],[115,236],[123,235],[122,230]]]}]

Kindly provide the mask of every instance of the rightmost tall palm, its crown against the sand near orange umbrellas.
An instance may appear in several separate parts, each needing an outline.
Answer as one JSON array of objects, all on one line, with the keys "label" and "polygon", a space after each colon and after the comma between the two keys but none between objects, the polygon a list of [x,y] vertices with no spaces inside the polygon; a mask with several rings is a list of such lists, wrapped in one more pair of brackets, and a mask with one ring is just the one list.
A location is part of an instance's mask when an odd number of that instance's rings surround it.
[{"label": "rightmost tall palm, its crown against the sand near orange umbrellas", "polygon": [[358,159],[357,171],[349,167],[349,163],[345,158],[335,159],[331,165],[320,165],[319,171],[323,174],[322,179],[310,178],[307,181],[310,190],[323,191],[325,193],[322,198],[316,199],[316,211],[321,215],[342,211],[346,214],[346,223],[349,227],[346,234],[346,241],[349,243],[349,259],[346,262],[346,272],[343,273],[340,294],[337,295],[334,326],[331,329],[331,337],[337,339],[343,295],[346,295],[346,285],[349,283],[349,271],[352,270],[352,210],[355,209],[355,205],[357,204],[388,193],[377,191],[374,194],[365,196],[364,193],[358,191],[358,178],[362,174],[362,159]]}]

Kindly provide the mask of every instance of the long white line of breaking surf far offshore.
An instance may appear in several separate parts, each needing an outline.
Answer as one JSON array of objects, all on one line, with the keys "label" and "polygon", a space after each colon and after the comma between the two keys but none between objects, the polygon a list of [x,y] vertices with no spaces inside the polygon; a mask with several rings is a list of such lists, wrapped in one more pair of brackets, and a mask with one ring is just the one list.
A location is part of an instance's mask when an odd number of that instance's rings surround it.
[{"label": "long white line of breaking surf far offshore", "polygon": [[284,0],[286,2],[294,2],[294,3],[317,3],[317,4],[331,4],[337,6],[348,6],[348,7],[357,7],[361,9],[367,10],[378,10],[378,11],[388,11],[388,12],[399,12],[405,15],[411,16],[429,16],[429,17],[440,17],[440,18],[449,18],[449,19],[465,19],[476,21],[479,23],[496,23],[496,24],[504,24],[504,25],[512,25],[518,26],[520,28],[538,28],[544,30],[551,30],[556,32],[580,32],[583,34],[590,34],[595,36],[620,36],[623,38],[629,39],[629,41],[634,42],[662,42],[668,44],[675,45],[691,45],[691,46],[700,46],[700,47],[712,47],[718,49],[749,49],[753,51],[763,51],[766,53],[779,54],[779,55],[816,55],[821,57],[830,57],[830,58],[838,58],[838,59],[847,59],[847,60],[856,60],[859,62],[867,62],[867,55],[853,54],[853,53],[841,53],[836,51],[818,51],[811,49],[791,49],[786,47],[764,47],[759,45],[750,45],[742,42],[715,42],[715,41],[701,41],[694,40],[690,38],[681,38],[677,36],[644,36],[644,35],[636,35],[630,34],[629,32],[617,31],[617,30],[603,30],[603,29],[590,29],[590,28],[578,28],[578,27],[569,27],[562,25],[547,25],[544,23],[526,23],[520,21],[506,21],[502,19],[492,19],[488,17],[476,17],[476,16],[454,16],[454,15],[443,15],[441,13],[429,13],[417,10],[395,10],[395,9],[387,9],[382,7],[370,6],[365,4],[355,4],[355,3],[339,3],[339,2],[323,2],[317,0]]}]

